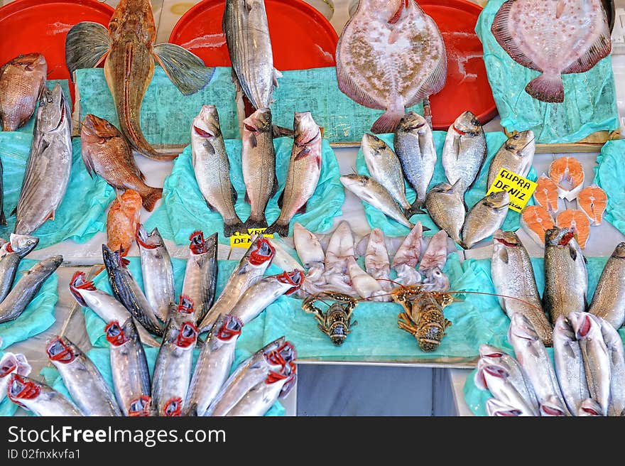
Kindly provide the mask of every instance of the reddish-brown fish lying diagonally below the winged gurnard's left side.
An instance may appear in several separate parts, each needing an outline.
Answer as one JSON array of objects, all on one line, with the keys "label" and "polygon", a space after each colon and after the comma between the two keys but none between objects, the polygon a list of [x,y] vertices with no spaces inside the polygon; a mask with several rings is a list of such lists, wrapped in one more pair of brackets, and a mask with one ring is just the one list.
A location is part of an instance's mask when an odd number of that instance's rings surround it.
[{"label": "reddish-brown fish lying diagonally below the winged gurnard's left side", "polygon": [[97,173],[119,190],[131,189],[141,195],[143,207],[152,212],[163,188],[146,185],[146,177],[136,166],[126,138],[109,121],[87,114],[80,128],[82,161],[87,173]]}]

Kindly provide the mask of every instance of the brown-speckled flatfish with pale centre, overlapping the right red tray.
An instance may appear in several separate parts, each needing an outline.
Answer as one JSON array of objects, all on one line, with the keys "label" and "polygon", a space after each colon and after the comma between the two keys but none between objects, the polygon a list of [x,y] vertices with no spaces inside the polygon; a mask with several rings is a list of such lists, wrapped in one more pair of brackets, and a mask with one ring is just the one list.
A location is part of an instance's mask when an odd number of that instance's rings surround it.
[{"label": "brown-speckled flatfish with pale centre, overlapping the right red tray", "polygon": [[337,44],[339,89],[385,113],[376,134],[392,133],[406,107],[445,85],[447,52],[436,23],[417,2],[361,0]]}]

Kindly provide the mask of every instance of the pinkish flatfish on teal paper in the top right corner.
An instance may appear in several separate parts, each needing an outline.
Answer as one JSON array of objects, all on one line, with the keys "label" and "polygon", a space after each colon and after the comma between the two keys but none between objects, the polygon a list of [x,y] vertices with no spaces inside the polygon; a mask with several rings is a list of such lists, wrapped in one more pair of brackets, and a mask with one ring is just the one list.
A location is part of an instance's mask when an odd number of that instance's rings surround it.
[{"label": "pinkish flatfish on teal paper in the top right corner", "polygon": [[562,75],[588,71],[612,50],[600,0],[508,0],[491,31],[513,60],[541,73],[525,90],[543,102],[564,102]]}]

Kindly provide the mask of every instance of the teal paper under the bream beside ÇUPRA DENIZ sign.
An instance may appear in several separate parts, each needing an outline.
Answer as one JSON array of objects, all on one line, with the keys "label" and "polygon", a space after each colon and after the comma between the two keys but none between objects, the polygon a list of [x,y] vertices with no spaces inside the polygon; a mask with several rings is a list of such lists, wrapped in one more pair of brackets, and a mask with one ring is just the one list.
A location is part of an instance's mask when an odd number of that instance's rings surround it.
[{"label": "teal paper under the bream beside \u00c7UPRA DENIZ sign", "polygon": [[[379,134],[378,136],[386,143],[388,143],[391,148],[393,148],[393,134]],[[445,169],[442,167],[442,147],[445,144],[445,136],[447,136],[447,133],[445,131],[433,131],[433,136],[438,158],[434,169],[434,176],[432,177],[432,181],[430,182],[428,190],[438,183],[447,183],[447,178],[445,177]],[[464,201],[467,203],[467,207],[469,209],[476,205],[477,202],[479,202],[479,200],[481,200],[486,195],[489,188],[487,187],[487,181],[491,161],[493,160],[497,151],[499,151],[499,148],[503,146],[507,139],[508,138],[506,138],[506,135],[500,132],[486,134],[488,148],[487,159],[486,161],[484,161],[484,166],[482,166],[482,170],[480,170],[474,185],[470,190],[467,191],[467,193],[464,194]],[[358,156],[356,158],[356,169],[358,170],[358,173],[369,175],[369,170],[367,170],[366,163],[364,161],[362,148],[358,151]],[[528,173],[527,178],[529,180],[536,181],[536,170],[533,167]],[[404,181],[404,183],[406,185],[406,198],[409,202],[414,202],[417,197],[415,191],[413,190],[413,188],[410,187],[410,185],[408,185],[406,181]],[[388,236],[403,236],[408,234],[408,232],[410,231],[408,227],[405,227],[395,220],[391,220],[390,218],[386,217],[386,215],[384,215],[382,212],[380,212],[367,202],[363,201],[362,203],[364,205],[366,220],[369,222],[369,226],[371,228],[377,227]],[[530,200],[528,204],[533,204],[533,200]],[[429,232],[424,233],[425,236],[432,236],[437,231],[439,231],[439,228],[434,224],[432,219],[430,219],[429,215],[413,215],[413,217],[411,217],[411,222],[416,222],[417,220],[420,220],[424,227],[430,228]],[[504,222],[503,228],[506,230],[516,231],[519,227],[521,227],[521,214],[510,210],[508,216],[506,217],[506,221]]]}]

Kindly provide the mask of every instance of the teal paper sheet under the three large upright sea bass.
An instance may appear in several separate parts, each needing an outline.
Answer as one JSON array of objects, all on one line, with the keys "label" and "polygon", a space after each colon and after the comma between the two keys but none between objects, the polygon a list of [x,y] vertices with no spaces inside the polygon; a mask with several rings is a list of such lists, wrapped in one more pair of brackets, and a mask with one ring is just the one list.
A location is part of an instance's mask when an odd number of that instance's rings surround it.
[{"label": "teal paper sheet under the three large upright sea bass", "polygon": [[[276,147],[276,175],[279,188],[276,195],[269,200],[265,210],[268,224],[273,223],[280,215],[278,198],[286,183],[293,139],[278,138],[273,143]],[[230,161],[230,179],[239,195],[234,209],[245,222],[249,217],[250,205],[244,200],[245,183],[241,171],[241,141],[227,140],[226,151]],[[163,238],[171,239],[176,244],[187,244],[189,235],[197,229],[201,229],[205,234],[219,232],[219,242],[229,244],[229,238],[224,237],[224,220],[219,212],[211,212],[207,207],[200,188],[197,186],[191,161],[191,147],[187,146],[174,162],[171,174],[165,179],[163,204],[146,221],[146,229],[150,231],[158,227]],[[300,222],[313,232],[325,232],[330,229],[334,217],[341,215],[344,197],[343,186],[339,181],[337,158],[330,144],[324,140],[321,174],[317,189],[308,200],[306,212],[293,217],[290,234],[293,234],[293,222]],[[167,222],[163,222],[164,217],[168,218]],[[161,228],[163,223],[164,227]],[[172,228],[174,225],[175,228]]]}]

